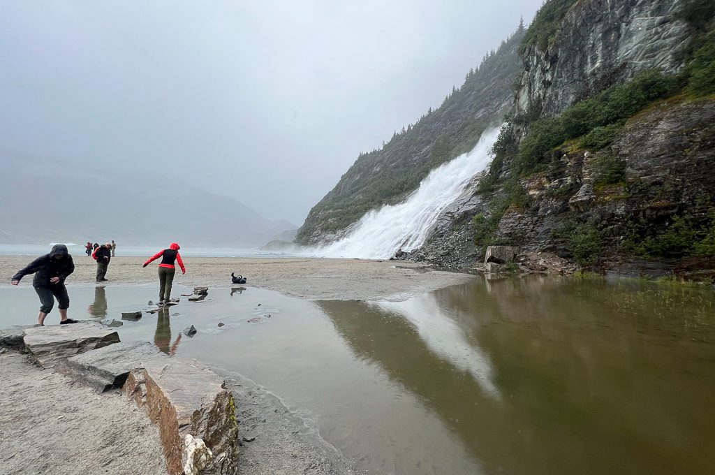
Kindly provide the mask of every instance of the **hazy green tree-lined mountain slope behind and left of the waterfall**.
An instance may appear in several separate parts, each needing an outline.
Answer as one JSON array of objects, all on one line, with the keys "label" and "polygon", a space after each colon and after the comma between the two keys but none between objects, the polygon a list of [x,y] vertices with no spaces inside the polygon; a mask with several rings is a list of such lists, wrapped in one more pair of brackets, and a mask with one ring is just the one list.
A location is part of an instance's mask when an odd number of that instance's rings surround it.
[{"label": "hazy green tree-lined mountain slope behind and left of the waterfall", "polygon": [[310,210],[296,241],[335,240],[368,210],[403,199],[430,170],[467,152],[488,126],[499,124],[511,107],[513,83],[521,71],[517,49],[524,33],[520,27],[497,51],[490,52],[438,109],[395,132],[382,149],[360,155],[335,188]]}]

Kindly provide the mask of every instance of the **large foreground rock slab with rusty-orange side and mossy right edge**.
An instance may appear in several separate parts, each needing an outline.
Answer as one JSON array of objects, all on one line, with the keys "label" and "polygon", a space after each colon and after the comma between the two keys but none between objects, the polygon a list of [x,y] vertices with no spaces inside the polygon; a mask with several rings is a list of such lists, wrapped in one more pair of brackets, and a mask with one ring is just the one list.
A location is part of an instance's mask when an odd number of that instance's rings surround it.
[{"label": "large foreground rock slab with rusty-orange side and mossy right edge", "polygon": [[238,427],[234,397],[223,378],[207,366],[162,353],[130,371],[122,391],[144,406],[159,426],[170,475],[184,471],[187,434],[202,439],[212,451],[210,473],[235,474]]}]

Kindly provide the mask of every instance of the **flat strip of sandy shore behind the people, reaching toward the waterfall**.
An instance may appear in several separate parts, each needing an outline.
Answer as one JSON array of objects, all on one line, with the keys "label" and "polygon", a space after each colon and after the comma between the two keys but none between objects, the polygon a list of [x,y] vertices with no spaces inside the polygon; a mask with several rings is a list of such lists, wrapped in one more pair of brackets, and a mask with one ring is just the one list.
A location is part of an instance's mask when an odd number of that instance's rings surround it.
[{"label": "flat strip of sandy shore behind the people, reaching toward the waterfall", "polygon": [[[29,256],[0,256],[5,282],[32,260]],[[144,258],[113,258],[107,270],[108,285],[157,283],[157,263],[142,268]],[[230,287],[231,273],[245,275],[245,287],[277,290],[311,300],[403,299],[428,290],[465,283],[467,274],[425,272],[418,263],[362,259],[290,258],[185,258],[185,275],[178,271],[174,283],[189,287]],[[75,271],[68,285],[94,284],[97,264],[84,255],[74,256]],[[26,276],[21,285],[31,285]]]}]

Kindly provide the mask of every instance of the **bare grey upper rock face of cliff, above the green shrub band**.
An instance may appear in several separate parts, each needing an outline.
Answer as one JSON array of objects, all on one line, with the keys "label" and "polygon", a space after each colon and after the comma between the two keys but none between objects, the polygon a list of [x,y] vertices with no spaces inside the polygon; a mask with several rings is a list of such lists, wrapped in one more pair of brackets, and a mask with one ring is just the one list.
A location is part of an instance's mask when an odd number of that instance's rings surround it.
[{"label": "bare grey upper rock face of cliff, above the green shrub band", "polygon": [[516,93],[516,112],[541,104],[555,115],[579,99],[658,68],[678,72],[689,28],[681,0],[581,0],[566,13],[545,51],[531,44]]}]

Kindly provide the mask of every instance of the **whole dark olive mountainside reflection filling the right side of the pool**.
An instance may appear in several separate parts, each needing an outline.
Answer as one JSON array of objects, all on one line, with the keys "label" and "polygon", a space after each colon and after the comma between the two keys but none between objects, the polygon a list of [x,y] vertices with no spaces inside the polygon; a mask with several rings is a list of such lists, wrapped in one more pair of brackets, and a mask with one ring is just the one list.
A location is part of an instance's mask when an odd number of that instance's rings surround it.
[{"label": "whole dark olive mountainside reflection filling the right side of the pool", "polygon": [[[535,276],[478,279],[404,308],[318,305],[358,358],[418,396],[486,473],[707,473],[710,466],[711,290]],[[418,318],[439,319],[436,332],[411,321],[419,305]],[[443,318],[460,338],[437,323]],[[470,361],[464,342],[490,363],[501,399],[480,386],[470,370],[480,360]]]}]

